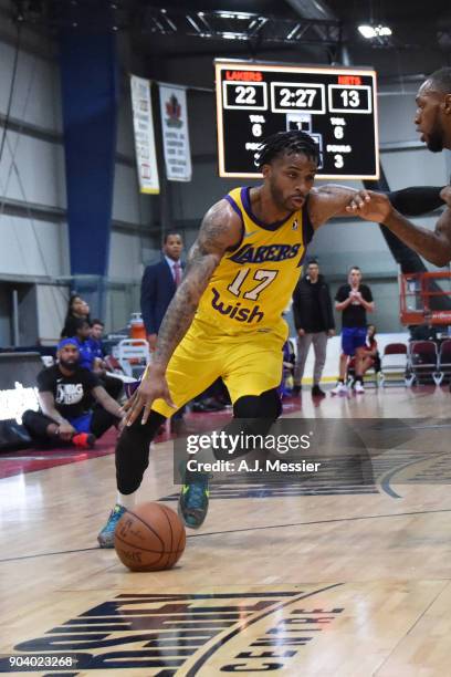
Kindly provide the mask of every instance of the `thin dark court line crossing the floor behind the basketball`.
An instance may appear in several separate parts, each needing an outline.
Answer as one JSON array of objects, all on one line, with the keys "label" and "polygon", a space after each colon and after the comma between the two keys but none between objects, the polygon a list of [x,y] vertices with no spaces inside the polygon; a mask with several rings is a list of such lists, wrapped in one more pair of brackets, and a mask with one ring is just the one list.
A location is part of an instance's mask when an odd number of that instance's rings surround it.
[{"label": "thin dark court line crossing the floor behind the basketball", "polygon": [[[451,512],[451,508],[441,508],[440,510],[415,510],[412,512],[392,512],[386,514],[363,514],[360,517],[353,518],[334,518],[331,520],[312,520],[310,522],[291,522],[287,524],[265,524],[264,527],[247,527],[245,529],[230,529],[227,531],[208,531],[207,533],[191,533],[187,535],[187,539],[199,539],[211,535],[223,535],[227,533],[243,533],[247,531],[262,531],[264,529],[285,529],[287,527],[312,527],[314,524],[333,524],[336,522],[356,522],[358,520],[379,520],[385,518],[396,518],[396,517],[410,517],[415,514],[437,514],[440,512]],[[101,551],[112,551],[113,549],[106,548],[80,548],[78,550],[61,550],[57,552],[40,552],[38,554],[32,555],[20,555],[18,558],[4,558],[0,559],[0,564],[4,562],[18,562],[20,560],[33,560],[35,558],[49,558],[52,555],[59,554],[73,554],[75,552],[101,552]]]}]

